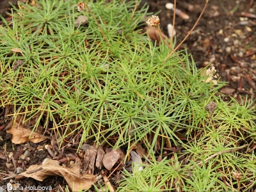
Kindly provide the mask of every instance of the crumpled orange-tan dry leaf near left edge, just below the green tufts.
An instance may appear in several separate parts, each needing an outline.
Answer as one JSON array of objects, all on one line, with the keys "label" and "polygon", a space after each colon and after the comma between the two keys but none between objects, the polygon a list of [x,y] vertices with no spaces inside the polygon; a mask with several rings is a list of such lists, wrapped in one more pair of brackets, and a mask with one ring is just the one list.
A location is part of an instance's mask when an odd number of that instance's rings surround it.
[{"label": "crumpled orange-tan dry leaf near left edge, just below the green tufts", "polygon": [[6,132],[12,134],[12,143],[21,144],[28,141],[39,143],[47,139],[47,137],[45,137],[43,134],[40,134],[39,132],[36,132],[36,130],[32,132],[32,130],[25,127],[21,122],[22,120],[17,118],[14,124],[13,121],[10,121],[9,124],[6,125],[6,127],[11,127],[10,129],[7,129]]}]

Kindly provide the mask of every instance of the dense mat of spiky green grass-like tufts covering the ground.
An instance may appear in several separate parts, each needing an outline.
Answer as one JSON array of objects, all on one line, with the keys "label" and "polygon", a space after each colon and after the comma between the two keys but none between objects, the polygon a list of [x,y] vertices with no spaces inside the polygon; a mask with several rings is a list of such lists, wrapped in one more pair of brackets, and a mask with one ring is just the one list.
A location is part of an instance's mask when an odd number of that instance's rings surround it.
[{"label": "dense mat of spiky green grass-like tufts covering the ground", "polygon": [[[133,1],[20,4],[0,28],[0,105],[35,120],[65,146],[143,143],[150,164],[125,172],[122,191],[232,191],[256,184],[253,101],[218,97],[224,83],[206,83],[185,51],[154,45],[138,27],[147,7]],[[86,25],[74,27],[79,15]],[[97,21],[95,20],[97,19]],[[209,109],[209,103],[216,105]],[[254,121],[253,121],[254,118]],[[164,148],[182,147],[172,159]],[[178,152],[178,151],[177,151]],[[241,179],[234,174],[241,173]],[[124,187],[124,188],[123,188]]]}]

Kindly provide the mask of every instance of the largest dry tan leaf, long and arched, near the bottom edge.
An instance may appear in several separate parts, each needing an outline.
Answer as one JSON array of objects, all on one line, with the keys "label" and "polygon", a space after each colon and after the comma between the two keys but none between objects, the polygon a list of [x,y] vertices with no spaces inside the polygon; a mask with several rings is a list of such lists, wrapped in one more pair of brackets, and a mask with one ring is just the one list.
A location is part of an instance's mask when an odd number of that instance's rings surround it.
[{"label": "largest dry tan leaf, long and arched, near the bottom edge", "polygon": [[95,182],[95,175],[79,174],[79,166],[63,167],[59,161],[47,159],[42,165],[31,165],[26,172],[20,173],[24,177],[31,177],[43,181],[50,175],[63,177],[72,191],[86,190]]}]

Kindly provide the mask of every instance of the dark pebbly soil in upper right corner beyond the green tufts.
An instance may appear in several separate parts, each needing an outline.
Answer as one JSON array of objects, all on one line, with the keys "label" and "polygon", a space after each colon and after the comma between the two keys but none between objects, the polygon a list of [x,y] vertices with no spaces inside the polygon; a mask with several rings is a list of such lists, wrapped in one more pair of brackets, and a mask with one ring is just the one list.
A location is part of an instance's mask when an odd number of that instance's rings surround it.
[{"label": "dark pebbly soil in upper right corner beyond the green tufts", "polygon": [[[160,26],[164,34],[168,35],[167,25],[173,22],[173,11],[166,9],[166,3],[173,1],[142,1],[146,2],[149,4],[149,12],[156,13],[161,10],[158,14]],[[189,16],[187,20],[176,16],[177,45],[193,28],[204,4],[205,1],[202,0],[177,1],[177,8]],[[221,92],[237,100],[240,100],[239,95],[242,95],[243,99],[246,95],[255,99],[255,14],[256,2],[253,0],[209,1],[202,19],[180,47],[193,55],[198,68],[212,63],[221,81],[228,82]]]}]

